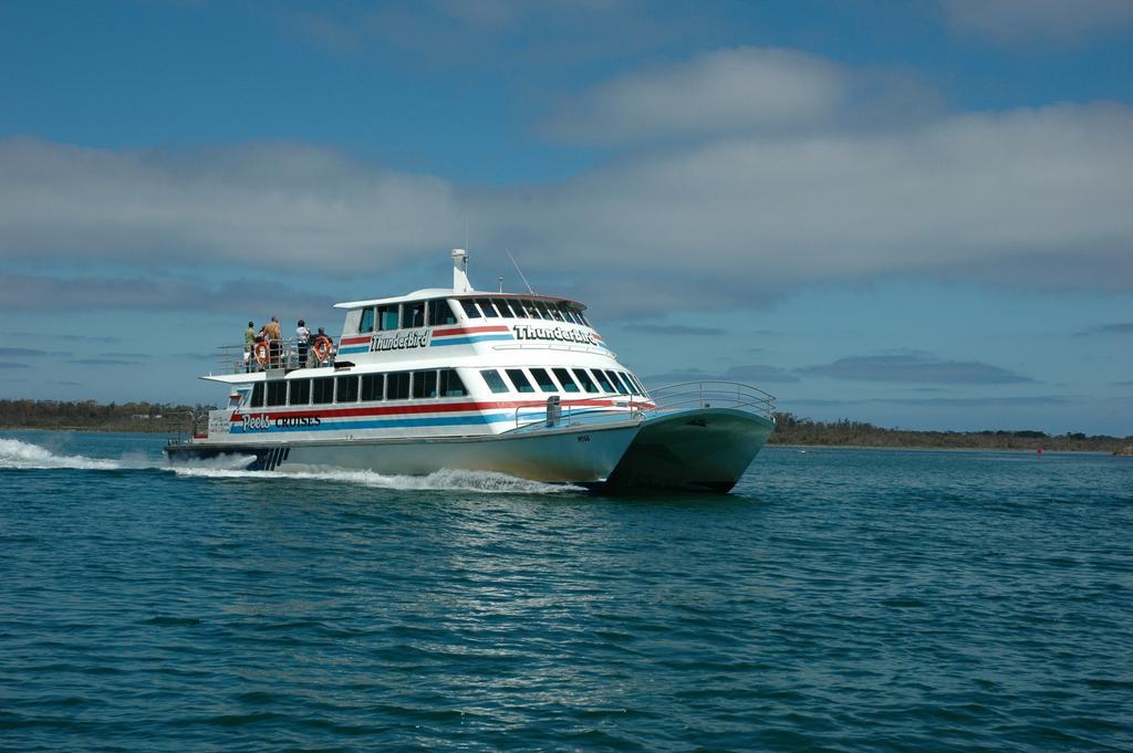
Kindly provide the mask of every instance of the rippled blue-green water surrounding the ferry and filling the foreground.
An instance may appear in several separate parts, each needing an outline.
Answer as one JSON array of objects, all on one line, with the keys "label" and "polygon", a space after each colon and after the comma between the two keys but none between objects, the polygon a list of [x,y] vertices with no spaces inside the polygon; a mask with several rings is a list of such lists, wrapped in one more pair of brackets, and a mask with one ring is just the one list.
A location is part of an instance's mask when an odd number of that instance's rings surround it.
[{"label": "rippled blue-green water surrounding the ferry and filling the foreground", "polygon": [[1133,750],[1133,460],[766,450],[727,497],[0,433],[0,748]]}]

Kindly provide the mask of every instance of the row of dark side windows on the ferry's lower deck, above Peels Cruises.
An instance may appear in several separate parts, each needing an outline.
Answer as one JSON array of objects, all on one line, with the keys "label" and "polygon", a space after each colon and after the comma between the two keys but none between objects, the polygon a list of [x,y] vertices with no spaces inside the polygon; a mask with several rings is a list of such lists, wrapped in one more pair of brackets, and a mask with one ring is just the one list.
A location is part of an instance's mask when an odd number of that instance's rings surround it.
[{"label": "row of dark side windows on the ferry's lower deck, above Peels Cruises", "polygon": [[352,374],[316,379],[257,382],[252,408],[279,405],[329,405],[331,403],[409,400],[410,397],[463,397],[468,394],[455,369]]}]

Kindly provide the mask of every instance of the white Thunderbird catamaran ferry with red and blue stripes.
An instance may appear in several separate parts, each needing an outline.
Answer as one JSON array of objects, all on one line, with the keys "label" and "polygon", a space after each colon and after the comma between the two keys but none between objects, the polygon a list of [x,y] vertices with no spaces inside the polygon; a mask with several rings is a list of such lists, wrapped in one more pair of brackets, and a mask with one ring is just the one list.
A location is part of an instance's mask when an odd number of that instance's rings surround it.
[{"label": "white Thunderbird catamaran ferry with red and blue stripes", "polygon": [[763,447],[774,397],[738,383],[648,391],[579,302],[451,289],[337,303],[337,337],[221,349],[228,404],[165,446],[171,462],[249,470],[493,471],[591,489],[729,491]]}]

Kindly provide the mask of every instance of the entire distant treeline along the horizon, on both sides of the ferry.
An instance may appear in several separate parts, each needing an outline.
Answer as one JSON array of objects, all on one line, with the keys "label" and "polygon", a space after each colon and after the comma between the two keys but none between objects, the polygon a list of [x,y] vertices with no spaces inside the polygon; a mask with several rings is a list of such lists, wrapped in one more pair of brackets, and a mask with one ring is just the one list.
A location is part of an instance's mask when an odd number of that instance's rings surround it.
[{"label": "entire distant treeline along the horizon, on both sides of the ferry", "polygon": [[[177,434],[190,426],[191,413],[203,414],[213,405],[168,403],[110,403],[84,400],[0,400],[0,427],[18,429],[85,429],[91,431],[146,431]],[[1029,450],[1117,452],[1133,446],[1125,438],[1087,436],[1081,433],[1048,435],[1042,431],[911,431],[883,429],[862,421],[812,421],[793,413],[776,413],[778,427],[768,444],[829,445],[846,447],[942,447],[955,450]]]}]

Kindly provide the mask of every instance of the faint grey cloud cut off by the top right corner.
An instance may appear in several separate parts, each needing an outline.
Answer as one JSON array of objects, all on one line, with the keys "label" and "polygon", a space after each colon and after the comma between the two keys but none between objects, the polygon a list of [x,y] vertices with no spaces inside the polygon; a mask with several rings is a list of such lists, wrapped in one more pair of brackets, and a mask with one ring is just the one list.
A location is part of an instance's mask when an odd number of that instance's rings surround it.
[{"label": "faint grey cloud cut off by the top right corner", "polygon": [[1133,23],[1130,0],[943,0],[957,29],[997,40],[1075,41]]}]

